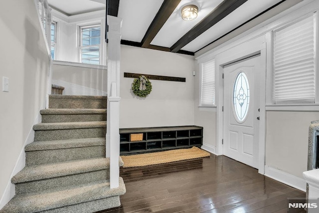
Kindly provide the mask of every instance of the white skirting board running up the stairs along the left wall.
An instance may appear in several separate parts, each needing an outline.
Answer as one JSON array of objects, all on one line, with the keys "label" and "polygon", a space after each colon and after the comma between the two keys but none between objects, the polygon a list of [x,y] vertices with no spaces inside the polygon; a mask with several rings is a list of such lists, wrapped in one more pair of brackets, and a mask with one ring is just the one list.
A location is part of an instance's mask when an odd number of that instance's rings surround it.
[{"label": "white skirting board running up the stairs along the left wall", "polygon": [[[33,125],[38,124],[41,122],[41,115],[38,113],[36,118],[34,119]],[[8,180],[8,183],[5,187],[4,193],[1,197],[0,200],[0,210],[13,198],[15,195],[15,186],[14,184],[11,183],[11,178],[15,176],[18,172],[20,172],[24,167],[25,167],[25,152],[24,152],[24,147],[27,144],[30,144],[34,141],[34,130],[33,130],[33,125],[29,131],[29,134],[27,138],[24,141],[24,145],[22,147],[22,150],[20,152],[20,155],[16,161],[16,164],[14,166],[13,172],[11,173],[10,179]]]}]

